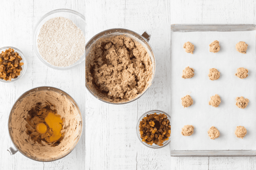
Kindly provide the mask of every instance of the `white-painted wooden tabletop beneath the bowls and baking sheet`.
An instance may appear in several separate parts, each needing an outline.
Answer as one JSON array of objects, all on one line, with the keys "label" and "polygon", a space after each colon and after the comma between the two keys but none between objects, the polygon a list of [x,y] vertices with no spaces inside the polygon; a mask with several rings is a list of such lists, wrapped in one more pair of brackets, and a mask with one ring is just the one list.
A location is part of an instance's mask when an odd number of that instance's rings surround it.
[{"label": "white-painted wooden tabletop beneath the bowls and baking sheet", "polygon": [[[138,141],[135,131],[137,118],[146,111],[160,109],[168,113],[171,110],[171,24],[255,24],[254,0],[1,0],[0,5],[0,46],[17,47],[27,56],[29,64],[21,80],[0,84],[0,169],[256,168],[255,157],[171,157],[169,146],[157,150],[146,148]],[[85,81],[84,65],[62,72],[47,68],[40,62],[32,49],[33,28],[44,14],[59,8],[73,9],[85,15],[86,42],[95,34],[114,27],[140,34],[147,30],[152,34],[150,44],[157,56],[157,71],[154,83],[145,95],[126,105],[105,104],[81,85]],[[32,161],[21,153],[10,156],[6,151],[11,144],[7,120],[12,105],[24,91],[46,85],[66,91],[78,102],[85,123],[81,140],[72,153],[55,162]]]}]

